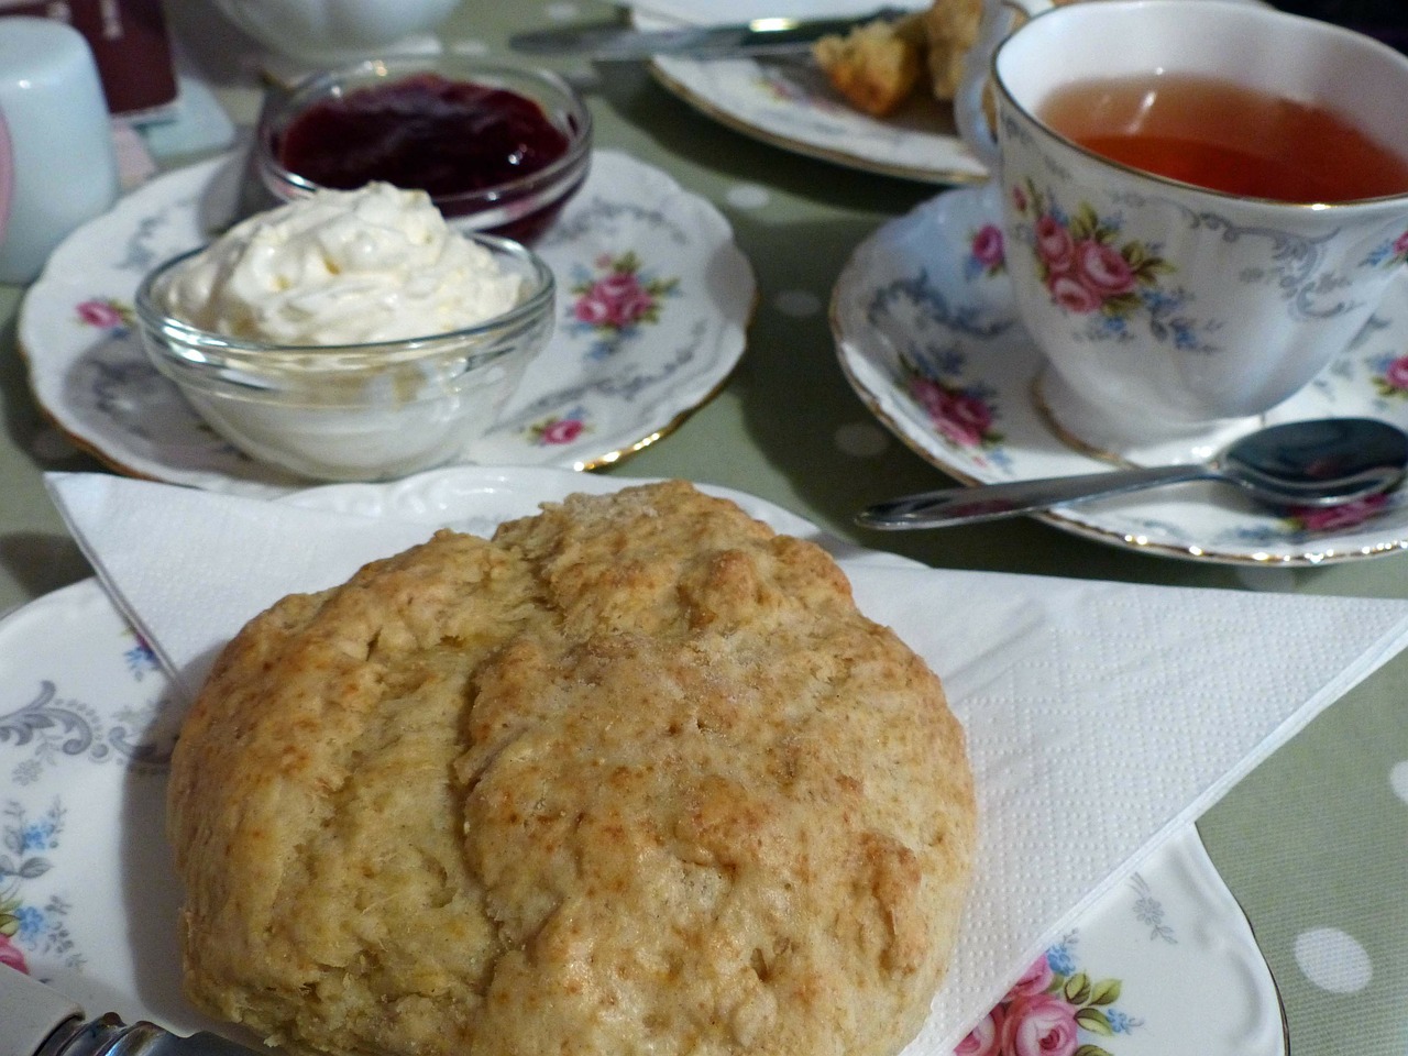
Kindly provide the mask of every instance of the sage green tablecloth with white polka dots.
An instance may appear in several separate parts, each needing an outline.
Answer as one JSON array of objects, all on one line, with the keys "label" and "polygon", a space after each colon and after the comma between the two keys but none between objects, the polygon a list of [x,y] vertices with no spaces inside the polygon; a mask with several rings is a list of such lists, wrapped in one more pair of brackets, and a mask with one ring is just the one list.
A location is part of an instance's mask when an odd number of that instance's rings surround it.
[{"label": "sage green tablecloth with white polka dots", "polygon": [[[230,117],[248,127],[258,107],[253,56],[246,41],[207,25],[203,18],[210,13],[196,10],[204,7],[169,6],[172,28],[187,45],[194,75],[208,77]],[[466,1],[445,24],[442,39],[446,48],[467,55],[524,62],[505,49],[508,35],[517,30],[620,17],[618,8],[597,0],[511,6]],[[929,534],[857,529],[852,518],[866,503],[953,482],[877,420],[848,382],[832,332],[832,297],[859,245],[945,187],[810,156],[780,145],[776,137],[717,120],[707,100],[684,99],[667,89],[646,63],[591,66],[560,59],[552,65],[586,86],[598,145],[663,170],[684,191],[718,210],[756,280],[746,352],[719,391],[603,473],[680,476],[736,489],[843,539],[934,567],[1408,598],[1404,555],[1325,566],[1256,567],[1152,556],[1035,520]],[[791,82],[766,76],[758,83],[759,92],[773,93],[777,106],[788,104],[783,89]],[[825,120],[812,106],[808,120]],[[200,156],[166,153],[159,161],[170,169]],[[6,348],[0,351],[0,608],[6,610],[87,574],[48,501],[42,473],[103,467],[55,428],[30,390],[28,366],[15,342],[21,296],[23,290],[0,290],[0,313],[7,322]],[[1400,355],[1408,349],[1408,335],[1388,334],[1384,341],[1385,355],[1394,348]],[[1150,624],[1157,627],[1157,620]],[[1259,652],[1257,627],[1242,627],[1236,634],[1246,656],[1274,663],[1274,656]],[[137,643],[128,642],[114,652],[122,679],[141,673],[139,650],[134,649]],[[11,728],[7,715],[32,703],[0,704],[0,741]],[[1278,1005],[1271,1011],[1277,1019],[1284,1014],[1284,1032],[1278,1032],[1276,1045],[1295,1056],[1408,1056],[1405,715],[1408,659],[1398,656],[1326,708],[1198,821],[1197,832],[1217,883],[1225,886],[1228,904],[1245,915],[1245,931],[1260,962],[1257,970],[1266,973],[1270,1001]],[[15,836],[31,857],[44,856],[27,842],[44,838],[44,821],[25,818],[24,832]],[[6,824],[0,822],[0,828]],[[0,935],[20,935],[25,918],[6,908],[10,894],[4,883],[0,877]],[[1176,904],[1171,895],[1159,897],[1159,883],[1156,876],[1148,891],[1131,887],[1117,893],[1124,900],[1121,912],[1153,931],[1169,925]],[[1242,941],[1236,926],[1219,926],[1226,928],[1228,943]],[[1188,932],[1173,931],[1169,936],[1181,948],[1157,941],[1183,952],[1195,945]],[[1094,949],[1095,939],[1088,942],[1087,949]],[[1046,959],[1052,979],[1062,976],[1059,986],[1080,974],[1083,966],[1079,943],[1055,949]],[[1070,974],[1060,973],[1062,967]],[[1098,974],[1098,966],[1090,967]],[[1167,983],[1170,995],[1188,993],[1191,986],[1174,977]],[[1050,984],[1041,977],[1042,987]],[[1073,984],[1071,993],[1077,994],[1079,986]],[[1209,1052],[1200,1038],[1200,1008],[1173,1007],[1178,1000],[1170,997],[1157,1008],[1159,1015],[1174,1017],[1176,1029],[1183,1032],[1177,1050]],[[1084,1008],[1101,1012],[1105,1007],[1087,1001]],[[1124,1014],[1119,1000],[1110,1008]],[[1091,1046],[1084,1049],[1086,1056],[1139,1056],[1149,1052],[1140,1045],[1150,1042],[1140,1041],[1140,1031],[1133,1029],[1132,1019],[1138,1018],[1107,1015],[1108,1032],[1102,1032],[1100,1019],[1087,1014],[1080,1033],[1046,1035],[1056,1046],[1048,1046],[1046,1056],[1073,1056],[1081,1045]],[[1152,1028],[1143,1031],[1145,1038],[1155,1033]],[[1032,1056],[1011,1046],[990,1052]]]}]

